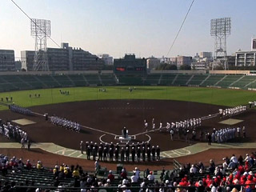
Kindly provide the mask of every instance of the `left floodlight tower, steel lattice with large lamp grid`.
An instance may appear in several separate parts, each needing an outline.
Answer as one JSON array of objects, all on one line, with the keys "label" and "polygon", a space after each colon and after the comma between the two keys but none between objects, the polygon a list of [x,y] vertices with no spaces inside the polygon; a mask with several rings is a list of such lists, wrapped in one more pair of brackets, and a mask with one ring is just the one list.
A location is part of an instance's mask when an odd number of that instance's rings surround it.
[{"label": "left floodlight tower, steel lattice with large lamp grid", "polygon": [[50,38],[50,20],[32,18],[31,36],[35,38],[33,70],[49,70],[47,58],[47,38]]}]

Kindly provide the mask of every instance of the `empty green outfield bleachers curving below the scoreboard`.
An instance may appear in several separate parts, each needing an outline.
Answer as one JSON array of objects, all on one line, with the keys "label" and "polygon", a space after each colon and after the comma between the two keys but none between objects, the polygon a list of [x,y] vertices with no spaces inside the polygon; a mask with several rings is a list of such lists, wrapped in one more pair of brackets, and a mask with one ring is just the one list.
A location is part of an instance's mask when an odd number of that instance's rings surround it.
[{"label": "empty green outfield bleachers curving below the scoreboard", "polygon": [[242,74],[114,74],[0,75],[0,92],[70,86],[216,86],[255,89],[256,75]]}]

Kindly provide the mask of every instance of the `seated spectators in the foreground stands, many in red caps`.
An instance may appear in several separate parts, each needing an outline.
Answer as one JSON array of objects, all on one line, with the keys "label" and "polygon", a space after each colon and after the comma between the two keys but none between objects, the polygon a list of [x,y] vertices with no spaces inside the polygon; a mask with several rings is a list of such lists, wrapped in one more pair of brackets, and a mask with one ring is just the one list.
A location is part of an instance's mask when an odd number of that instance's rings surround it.
[{"label": "seated spectators in the foreground stands, many in red caps", "polygon": [[[62,189],[61,181],[64,179],[72,179],[70,186],[80,187],[81,191],[98,191],[98,188],[116,187],[114,191],[129,192],[131,187],[138,187],[136,191],[152,191],[152,192],[224,192],[233,191],[250,192],[255,190],[256,174],[254,173],[255,154],[246,154],[245,157],[238,158],[233,154],[230,158],[223,158],[223,162],[216,165],[210,160],[209,166],[205,166],[202,162],[190,165],[190,163],[180,167],[178,170],[165,170],[157,175],[152,170],[144,171],[144,174],[135,167],[130,176],[126,168],[122,168],[121,173],[109,170],[102,178],[97,174],[88,174],[82,169],[82,166],[69,166],[63,163],[61,166],[54,166],[53,186]],[[22,162],[22,159],[16,157],[8,158],[0,154],[0,170],[2,176],[5,177],[10,171],[22,171],[22,169],[42,170],[46,169],[42,166],[42,162],[38,161],[36,165],[31,165],[30,160]],[[28,186],[29,183],[22,183]],[[21,183],[19,184],[21,185]],[[15,182],[6,182],[4,186],[0,186],[1,191],[17,191]],[[131,189],[131,190],[130,190]],[[46,190],[28,190],[25,191],[46,191]],[[63,191],[63,190],[61,190]]]}]

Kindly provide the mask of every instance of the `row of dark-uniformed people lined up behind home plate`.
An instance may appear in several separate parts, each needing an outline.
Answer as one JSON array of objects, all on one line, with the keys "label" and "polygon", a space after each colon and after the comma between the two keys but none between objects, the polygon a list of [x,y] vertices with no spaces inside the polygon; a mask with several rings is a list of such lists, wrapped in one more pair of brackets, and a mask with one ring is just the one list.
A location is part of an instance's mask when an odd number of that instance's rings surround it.
[{"label": "row of dark-uniformed people lined up behind home plate", "polygon": [[126,146],[119,146],[117,143],[116,145],[113,142],[109,144],[103,145],[102,142],[98,145],[97,142],[80,142],[80,150],[83,154],[86,151],[87,159],[89,160],[92,156],[93,160],[96,158],[99,161],[107,161],[107,158],[110,162],[129,162],[130,157],[131,161],[138,162],[142,161],[158,161],[160,160],[160,148],[159,146],[151,146],[150,142],[139,142],[135,145],[132,143],[126,143]]}]

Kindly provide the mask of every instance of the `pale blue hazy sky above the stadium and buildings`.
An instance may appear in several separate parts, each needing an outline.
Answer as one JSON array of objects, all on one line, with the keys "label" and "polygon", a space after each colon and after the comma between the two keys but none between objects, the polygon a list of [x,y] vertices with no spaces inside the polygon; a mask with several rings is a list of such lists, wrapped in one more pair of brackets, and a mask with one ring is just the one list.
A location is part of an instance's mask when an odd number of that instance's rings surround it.
[{"label": "pale blue hazy sky above the stadium and buildings", "polygon": [[[168,53],[192,0],[14,0],[30,18],[49,19],[51,38],[92,54],[162,57]],[[168,57],[214,51],[210,19],[231,17],[227,52],[250,50],[256,37],[255,0],[195,0]],[[1,0],[0,49],[34,50],[30,19]],[[58,47],[47,41],[48,47]]]}]

